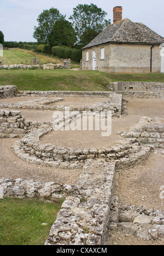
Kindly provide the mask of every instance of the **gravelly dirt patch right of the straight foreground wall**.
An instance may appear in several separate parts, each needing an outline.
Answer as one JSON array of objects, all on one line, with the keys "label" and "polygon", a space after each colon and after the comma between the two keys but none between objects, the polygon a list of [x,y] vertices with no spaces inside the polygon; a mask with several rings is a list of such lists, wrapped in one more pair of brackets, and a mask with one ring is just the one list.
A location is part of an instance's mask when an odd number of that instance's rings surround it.
[{"label": "gravelly dirt patch right of the straight foreground wall", "polygon": [[151,154],[142,164],[120,171],[114,194],[119,196],[121,202],[162,211],[164,200],[160,198],[160,188],[164,185],[163,168],[164,155]]}]

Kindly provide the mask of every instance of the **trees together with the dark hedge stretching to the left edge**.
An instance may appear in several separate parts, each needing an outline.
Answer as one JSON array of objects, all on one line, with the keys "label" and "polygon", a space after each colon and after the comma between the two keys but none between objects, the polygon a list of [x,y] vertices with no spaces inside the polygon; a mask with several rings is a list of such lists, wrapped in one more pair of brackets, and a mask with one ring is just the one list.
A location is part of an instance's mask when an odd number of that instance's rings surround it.
[{"label": "trees together with the dark hedge stretching to the left edge", "polygon": [[[91,42],[99,33],[110,25],[107,13],[95,4],[79,4],[73,8],[73,14],[66,20],[66,15],[56,8],[43,10],[38,16],[38,26],[34,26],[33,42],[4,42],[0,31],[0,43],[7,48],[22,48],[54,54],[63,59],[80,61],[81,48]],[[79,51],[77,50],[79,49]]]}]

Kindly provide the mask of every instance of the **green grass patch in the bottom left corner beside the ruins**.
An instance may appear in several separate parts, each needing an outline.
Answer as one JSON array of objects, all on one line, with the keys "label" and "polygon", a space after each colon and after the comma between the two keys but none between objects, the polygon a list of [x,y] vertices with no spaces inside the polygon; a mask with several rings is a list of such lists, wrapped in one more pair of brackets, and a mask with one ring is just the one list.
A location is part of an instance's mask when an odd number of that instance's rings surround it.
[{"label": "green grass patch in the bottom left corner beside the ruins", "polygon": [[44,245],[60,208],[36,200],[0,199],[0,245]]}]

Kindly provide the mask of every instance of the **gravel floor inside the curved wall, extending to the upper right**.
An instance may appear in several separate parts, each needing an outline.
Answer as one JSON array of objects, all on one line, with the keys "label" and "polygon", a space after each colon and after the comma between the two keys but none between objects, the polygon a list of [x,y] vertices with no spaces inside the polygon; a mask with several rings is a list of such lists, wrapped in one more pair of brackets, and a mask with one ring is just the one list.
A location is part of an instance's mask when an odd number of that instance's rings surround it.
[{"label": "gravel floor inside the curved wall, extending to the upper right", "polygon": [[[109,137],[102,137],[102,131],[52,131],[40,140],[42,143],[52,143],[61,147],[109,148],[124,139],[118,131],[128,131],[137,125],[143,116],[162,118],[164,114],[164,100],[162,99],[132,99],[128,98],[127,116],[112,119],[112,133]],[[81,120],[81,124],[83,121]],[[95,127],[95,124],[93,124]]]}]

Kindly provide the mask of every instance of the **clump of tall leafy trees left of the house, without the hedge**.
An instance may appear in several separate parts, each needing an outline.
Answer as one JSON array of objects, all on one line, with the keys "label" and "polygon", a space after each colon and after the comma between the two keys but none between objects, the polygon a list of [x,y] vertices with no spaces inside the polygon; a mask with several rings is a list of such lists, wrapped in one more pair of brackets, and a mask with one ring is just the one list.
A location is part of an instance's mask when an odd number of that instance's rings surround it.
[{"label": "clump of tall leafy trees left of the house, without the hedge", "polygon": [[106,15],[105,11],[92,3],[73,8],[73,15],[69,17],[72,22],[66,20],[66,15],[56,8],[44,10],[38,16],[33,37],[38,43],[81,49],[110,25],[110,20],[105,19]]}]

